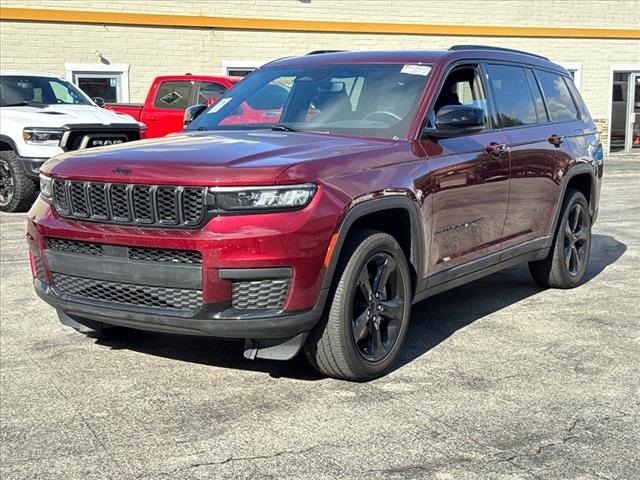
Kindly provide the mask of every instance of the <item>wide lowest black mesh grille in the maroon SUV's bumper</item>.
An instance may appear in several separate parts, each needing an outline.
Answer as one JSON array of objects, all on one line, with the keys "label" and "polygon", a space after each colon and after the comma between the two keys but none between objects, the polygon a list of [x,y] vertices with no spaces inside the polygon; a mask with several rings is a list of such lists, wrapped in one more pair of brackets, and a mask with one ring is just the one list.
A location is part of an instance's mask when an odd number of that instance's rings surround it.
[{"label": "wide lowest black mesh grille in the maroon SUV's bumper", "polygon": [[119,305],[181,311],[194,311],[202,306],[201,290],[108,282],[62,273],[53,274],[53,283],[64,294]]}]

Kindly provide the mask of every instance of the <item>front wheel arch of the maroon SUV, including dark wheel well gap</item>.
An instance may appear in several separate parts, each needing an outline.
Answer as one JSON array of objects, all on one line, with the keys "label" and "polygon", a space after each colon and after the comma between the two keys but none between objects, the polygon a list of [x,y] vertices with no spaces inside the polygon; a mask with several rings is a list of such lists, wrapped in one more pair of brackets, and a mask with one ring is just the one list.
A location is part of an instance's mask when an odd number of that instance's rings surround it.
[{"label": "front wheel arch of the maroon SUV, including dark wheel well gap", "polygon": [[406,195],[376,198],[356,204],[347,211],[337,230],[322,288],[331,286],[349,234],[355,229],[370,228],[388,233],[398,241],[407,256],[415,293],[423,278],[424,239],[421,226],[418,208]]}]

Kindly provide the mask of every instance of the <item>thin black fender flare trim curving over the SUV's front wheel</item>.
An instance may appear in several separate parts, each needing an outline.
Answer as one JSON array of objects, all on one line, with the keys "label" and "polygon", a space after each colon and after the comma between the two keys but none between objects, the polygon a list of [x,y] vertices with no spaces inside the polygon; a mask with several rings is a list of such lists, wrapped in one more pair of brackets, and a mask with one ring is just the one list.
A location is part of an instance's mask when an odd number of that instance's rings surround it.
[{"label": "thin black fender flare trim curving over the SUV's front wheel", "polygon": [[408,196],[402,194],[366,200],[354,205],[347,211],[337,231],[338,237],[333,248],[333,253],[331,255],[327,271],[325,272],[322,289],[328,289],[331,287],[344,242],[353,224],[365,215],[398,208],[405,210],[409,215],[411,249],[410,256],[407,260],[416,272],[416,285],[413,286],[413,289],[414,291],[419,291],[419,286],[423,280],[422,265],[424,258],[424,238],[421,228],[422,222],[420,221],[420,214],[418,213],[416,204]]}]

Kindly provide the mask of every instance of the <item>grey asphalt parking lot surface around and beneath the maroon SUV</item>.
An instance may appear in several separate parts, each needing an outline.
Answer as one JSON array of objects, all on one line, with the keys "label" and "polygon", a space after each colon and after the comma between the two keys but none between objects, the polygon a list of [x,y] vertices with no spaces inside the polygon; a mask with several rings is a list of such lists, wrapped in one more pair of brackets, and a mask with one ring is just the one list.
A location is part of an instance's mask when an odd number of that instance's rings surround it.
[{"label": "grey asphalt parking lot surface around and beneath the maroon SUV", "polygon": [[518,266],[415,306],[388,376],[136,333],[97,341],[31,287],[2,215],[0,477],[640,477],[640,157],[607,160],[588,281]]}]

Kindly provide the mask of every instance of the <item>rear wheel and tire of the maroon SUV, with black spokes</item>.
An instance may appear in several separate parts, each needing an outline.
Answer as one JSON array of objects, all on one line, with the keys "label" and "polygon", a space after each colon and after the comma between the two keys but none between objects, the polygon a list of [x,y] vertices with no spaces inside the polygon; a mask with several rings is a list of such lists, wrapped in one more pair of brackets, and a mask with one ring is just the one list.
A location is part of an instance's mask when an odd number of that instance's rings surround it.
[{"label": "rear wheel and tire of the maroon SUV, with black spokes", "polygon": [[529,262],[529,271],[543,288],[574,288],[582,283],[591,254],[591,215],[582,192],[567,190],[549,255]]}]

